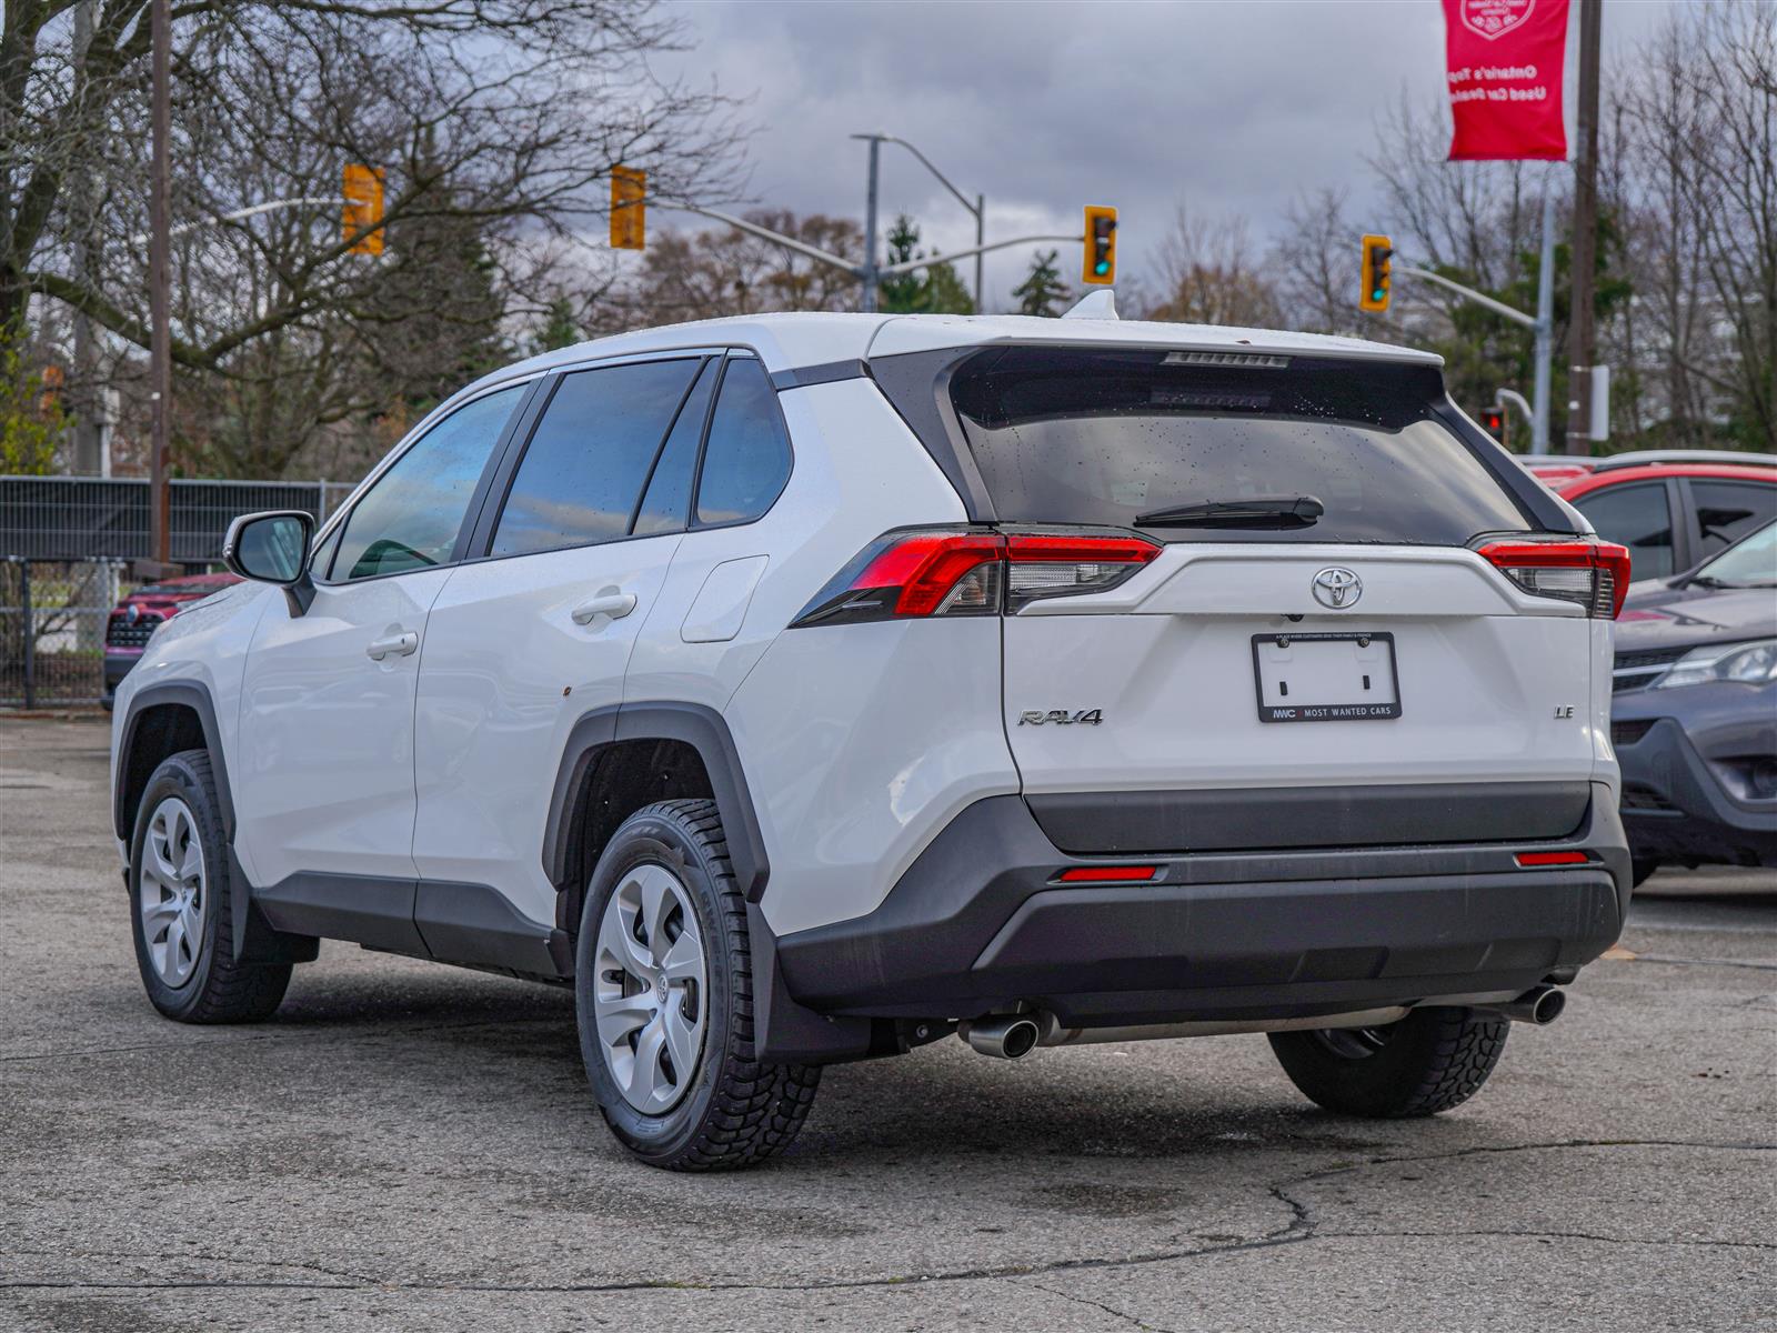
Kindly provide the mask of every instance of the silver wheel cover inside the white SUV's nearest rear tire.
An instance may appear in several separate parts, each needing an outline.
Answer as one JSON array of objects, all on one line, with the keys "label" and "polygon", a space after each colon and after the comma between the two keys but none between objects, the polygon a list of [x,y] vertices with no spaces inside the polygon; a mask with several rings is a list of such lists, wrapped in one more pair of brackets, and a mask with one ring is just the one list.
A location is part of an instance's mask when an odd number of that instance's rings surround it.
[{"label": "silver wheel cover inside the white SUV's nearest rear tire", "polygon": [[592,979],[604,1066],[636,1111],[665,1114],[689,1091],[704,1052],[705,985],[689,890],[665,866],[636,866],[604,905]]}]

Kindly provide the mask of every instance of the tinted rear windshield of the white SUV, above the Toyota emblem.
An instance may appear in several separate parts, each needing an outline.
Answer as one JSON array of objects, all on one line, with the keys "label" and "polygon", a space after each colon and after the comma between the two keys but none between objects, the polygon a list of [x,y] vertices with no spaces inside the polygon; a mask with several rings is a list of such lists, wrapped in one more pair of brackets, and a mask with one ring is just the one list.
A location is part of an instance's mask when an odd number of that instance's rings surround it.
[{"label": "tinted rear windshield of the white SUV, above the Toyota emblem", "polygon": [[[1462,546],[1525,512],[1432,409],[1430,366],[1249,354],[1011,347],[951,402],[1006,523],[1143,526],[1175,542]],[[1246,355],[1246,354],[1235,354]],[[1137,524],[1182,505],[1313,496],[1304,528]]]}]

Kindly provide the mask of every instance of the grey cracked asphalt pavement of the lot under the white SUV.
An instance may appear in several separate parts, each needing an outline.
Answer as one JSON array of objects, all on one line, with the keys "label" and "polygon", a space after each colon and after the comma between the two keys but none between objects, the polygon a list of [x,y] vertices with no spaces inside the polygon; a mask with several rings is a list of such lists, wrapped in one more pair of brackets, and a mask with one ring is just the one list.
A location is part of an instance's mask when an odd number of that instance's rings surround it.
[{"label": "grey cracked asphalt pavement of the lot under the white SUV", "polygon": [[1777,873],[1663,873],[1471,1102],[1256,1036],[828,1070],[762,1169],[633,1164],[572,997],[323,944],[149,1010],[107,730],[0,720],[4,1329],[1777,1329]]}]

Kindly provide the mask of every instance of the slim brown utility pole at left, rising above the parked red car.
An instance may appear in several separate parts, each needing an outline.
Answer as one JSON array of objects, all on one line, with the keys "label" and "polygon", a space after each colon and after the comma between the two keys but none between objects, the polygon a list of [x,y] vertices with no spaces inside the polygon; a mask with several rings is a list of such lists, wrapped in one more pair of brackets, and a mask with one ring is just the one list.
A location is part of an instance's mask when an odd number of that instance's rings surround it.
[{"label": "slim brown utility pole at left, rising above the parked red car", "polygon": [[149,236],[147,236],[147,304],[149,304],[149,398],[153,425],[149,432],[149,563],[153,576],[163,578],[172,567],[172,512],[167,494],[167,471],[172,439],[172,238],[169,183],[172,176],[172,11],[171,0],[153,0],[153,133],[155,146],[149,162]]}]

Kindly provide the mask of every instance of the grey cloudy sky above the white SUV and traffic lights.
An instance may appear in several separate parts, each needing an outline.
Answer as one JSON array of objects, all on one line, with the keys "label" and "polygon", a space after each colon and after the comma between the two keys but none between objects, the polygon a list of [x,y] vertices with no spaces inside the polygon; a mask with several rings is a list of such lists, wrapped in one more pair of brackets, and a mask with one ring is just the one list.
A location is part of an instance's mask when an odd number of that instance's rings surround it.
[{"label": "grey cloudy sky above the white SUV and traffic lights", "polygon": [[[1612,50],[1685,2],[1605,0],[1606,68]],[[750,98],[757,203],[862,217],[867,149],[848,135],[881,130],[919,144],[967,194],[986,194],[988,240],[1075,233],[1082,204],[1116,204],[1125,274],[1148,267],[1178,204],[1240,213],[1263,236],[1297,190],[1349,183],[1367,201],[1375,117],[1402,91],[1439,96],[1443,80],[1438,0],[670,9],[697,43],[672,68]],[[1571,110],[1569,92],[1569,123]],[[942,249],[974,240],[974,220],[890,146],[883,212],[897,210]],[[1027,261],[1027,251],[990,256],[990,307],[1009,300]],[[1077,265],[1079,249],[1064,249],[1064,272]]]}]

